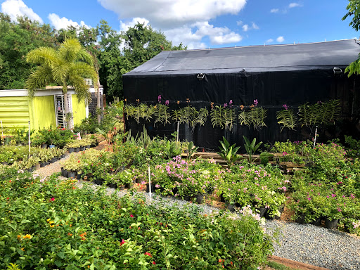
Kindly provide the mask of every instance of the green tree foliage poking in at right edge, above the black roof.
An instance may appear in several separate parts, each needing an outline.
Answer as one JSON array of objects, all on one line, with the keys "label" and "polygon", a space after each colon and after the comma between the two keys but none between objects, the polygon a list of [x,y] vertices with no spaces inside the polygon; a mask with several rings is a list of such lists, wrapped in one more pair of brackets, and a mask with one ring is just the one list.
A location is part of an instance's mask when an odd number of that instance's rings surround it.
[{"label": "green tree foliage poking in at right edge, above the black roof", "polygon": [[[346,7],[347,13],[342,17],[342,20],[346,20],[348,17],[352,17],[349,26],[353,27],[354,30],[359,31],[360,27],[360,0],[349,0],[349,4]],[[345,69],[350,77],[353,74],[360,74],[360,53],[354,62],[350,63]]]}]

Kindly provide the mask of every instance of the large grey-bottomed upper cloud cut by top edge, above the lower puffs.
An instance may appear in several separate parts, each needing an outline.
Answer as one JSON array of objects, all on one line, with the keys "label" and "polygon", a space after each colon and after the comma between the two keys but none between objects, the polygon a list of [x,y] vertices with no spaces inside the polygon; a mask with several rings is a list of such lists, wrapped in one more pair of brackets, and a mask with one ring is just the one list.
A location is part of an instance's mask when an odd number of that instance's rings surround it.
[{"label": "large grey-bottomed upper cloud cut by top edge, above the lower puffs", "polygon": [[120,18],[146,18],[153,27],[171,29],[189,23],[236,15],[246,0],[98,0]]}]

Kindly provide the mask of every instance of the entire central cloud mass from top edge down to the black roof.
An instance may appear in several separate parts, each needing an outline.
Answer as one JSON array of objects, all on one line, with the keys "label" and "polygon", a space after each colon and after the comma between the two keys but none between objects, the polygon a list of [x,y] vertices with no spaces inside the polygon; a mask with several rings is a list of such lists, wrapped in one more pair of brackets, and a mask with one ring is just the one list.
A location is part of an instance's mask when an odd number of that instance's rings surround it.
[{"label": "entire central cloud mass from top edge down to the black roof", "polygon": [[[204,37],[211,44],[227,44],[241,41],[240,34],[228,27],[214,27],[209,21],[219,15],[236,15],[246,0],[98,0],[110,11],[122,18],[120,29],[127,30],[137,21],[150,24],[164,32],[174,45],[182,42],[188,49],[205,48]],[[241,21],[237,25],[243,25]],[[257,25],[255,25],[257,27]],[[255,29],[255,28],[254,28]]]}]

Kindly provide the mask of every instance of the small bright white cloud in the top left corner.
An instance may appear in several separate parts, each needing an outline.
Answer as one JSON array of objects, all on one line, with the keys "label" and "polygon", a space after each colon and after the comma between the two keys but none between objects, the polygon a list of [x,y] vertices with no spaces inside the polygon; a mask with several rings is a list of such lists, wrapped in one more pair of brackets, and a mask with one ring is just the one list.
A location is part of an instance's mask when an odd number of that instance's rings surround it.
[{"label": "small bright white cloud in the top left corner", "polygon": [[44,23],[37,13],[34,13],[32,8],[25,5],[22,0],[6,0],[1,4],[1,12],[10,15],[11,20],[16,20],[17,16],[27,16],[30,20],[38,20],[39,23]]}]

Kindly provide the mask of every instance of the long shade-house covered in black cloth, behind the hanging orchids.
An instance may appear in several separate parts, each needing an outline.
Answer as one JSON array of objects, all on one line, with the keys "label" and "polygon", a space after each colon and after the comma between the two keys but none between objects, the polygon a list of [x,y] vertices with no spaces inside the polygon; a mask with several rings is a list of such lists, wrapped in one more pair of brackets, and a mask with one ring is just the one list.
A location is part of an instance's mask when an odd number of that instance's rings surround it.
[{"label": "long shade-house covered in black cloth, behind the hanging orchids", "polygon": [[[310,139],[314,130],[297,127],[282,132],[276,111],[283,104],[295,113],[304,103],[339,99],[340,124],[321,127],[323,140],[348,134],[356,136],[356,117],[359,117],[359,77],[344,74],[349,63],[360,52],[357,40],[347,39],[311,44],[275,46],[243,46],[237,48],[162,51],[143,65],[123,75],[124,98],[127,103],[157,103],[158,96],[169,100],[171,109],[187,105],[207,108],[210,104],[233,102],[236,113],[240,105],[247,108],[256,99],[268,110],[266,126],[261,130],[236,124],[232,131],[212,127],[210,117],[205,126],[195,127],[193,133],[184,127],[181,138],[191,139],[198,146],[217,148],[221,136],[242,144],[242,135],[257,137],[264,142]],[[180,105],[177,104],[180,101]],[[355,121],[355,122],[354,122]],[[176,124],[144,122],[150,134],[169,134]],[[131,131],[141,131],[141,124],[127,121]],[[190,132],[190,133],[189,133]]]}]

